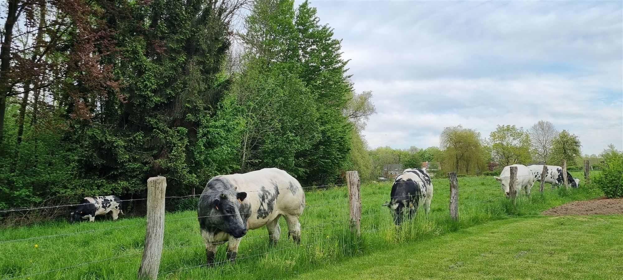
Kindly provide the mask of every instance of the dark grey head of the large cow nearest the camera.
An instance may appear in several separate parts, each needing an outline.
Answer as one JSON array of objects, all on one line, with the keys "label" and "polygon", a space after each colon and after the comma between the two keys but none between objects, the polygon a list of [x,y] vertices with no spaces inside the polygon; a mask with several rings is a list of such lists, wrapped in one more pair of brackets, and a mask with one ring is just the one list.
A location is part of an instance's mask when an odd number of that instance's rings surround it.
[{"label": "dark grey head of the large cow nearest the camera", "polygon": [[247,223],[240,217],[240,208],[242,201],[247,198],[247,193],[229,189],[213,196],[209,200],[209,207],[211,207],[207,217],[209,223],[235,238],[246,235]]}]

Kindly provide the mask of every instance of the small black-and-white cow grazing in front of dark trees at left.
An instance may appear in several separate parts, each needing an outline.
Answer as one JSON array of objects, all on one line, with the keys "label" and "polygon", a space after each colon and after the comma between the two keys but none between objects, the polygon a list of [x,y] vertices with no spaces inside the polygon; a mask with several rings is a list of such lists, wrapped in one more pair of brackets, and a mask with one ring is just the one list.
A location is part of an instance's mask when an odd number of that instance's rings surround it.
[{"label": "small black-and-white cow grazing in front of dark trees at left", "polygon": [[119,214],[123,215],[123,210],[121,210],[121,198],[115,197],[115,195],[85,197],[82,199],[82,202],[80,202],[80,205],[69,213],[69,222],[74,223],[81,218],[88,218],[90,222],[94,222],[95,216],[106,215],[107,213],[112,214],[113,220],[117,220]]}]

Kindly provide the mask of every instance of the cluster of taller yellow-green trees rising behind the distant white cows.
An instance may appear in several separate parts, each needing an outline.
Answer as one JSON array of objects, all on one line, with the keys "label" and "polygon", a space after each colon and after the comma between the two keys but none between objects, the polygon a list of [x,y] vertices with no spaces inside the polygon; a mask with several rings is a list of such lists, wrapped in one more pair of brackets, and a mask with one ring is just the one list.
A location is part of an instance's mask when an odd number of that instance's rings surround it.
[{"label": "cluster of taller yellow-green trees rising behind the distant white cows", "polygon": [[561,166],[566,161],[569,170],[583,164],[578,136],[558,131],[548,121],[538,121],[530,129],[498,125],[488,138],[475,129],[452,126],[442,132],[440,147],[442,169],[460,174],[499,173],[511,164]]}]

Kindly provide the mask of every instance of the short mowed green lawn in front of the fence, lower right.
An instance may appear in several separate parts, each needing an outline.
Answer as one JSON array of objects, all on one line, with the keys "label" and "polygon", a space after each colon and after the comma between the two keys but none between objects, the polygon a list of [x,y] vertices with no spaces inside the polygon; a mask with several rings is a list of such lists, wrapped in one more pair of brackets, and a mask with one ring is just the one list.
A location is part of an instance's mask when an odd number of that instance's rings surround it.
[{"label": "short mowed green lawn in front of the fence, lower right", "polygon": [[623,279],[623,215],[499,220],[292,279]]}]

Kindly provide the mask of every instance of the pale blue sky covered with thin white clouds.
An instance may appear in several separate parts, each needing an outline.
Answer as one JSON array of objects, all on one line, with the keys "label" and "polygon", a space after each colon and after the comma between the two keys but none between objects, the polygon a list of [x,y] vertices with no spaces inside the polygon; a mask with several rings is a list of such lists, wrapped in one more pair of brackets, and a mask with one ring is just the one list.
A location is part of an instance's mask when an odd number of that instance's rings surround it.
[{"label": "pale blue sky covered with thin white clouds", "polygon": [[355,90],[373,91],[371,148],[543,119],[583,154],[623,149],[623,1],[310,3],[343,40]]}]

